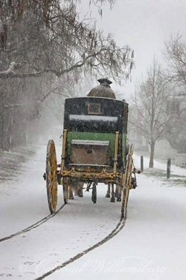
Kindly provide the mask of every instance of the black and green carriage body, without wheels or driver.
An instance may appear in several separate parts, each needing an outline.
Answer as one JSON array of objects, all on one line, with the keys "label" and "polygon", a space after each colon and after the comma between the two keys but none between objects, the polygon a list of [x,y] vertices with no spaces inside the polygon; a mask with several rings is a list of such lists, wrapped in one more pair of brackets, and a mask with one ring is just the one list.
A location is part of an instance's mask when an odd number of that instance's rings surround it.
[{"label": "black and green carriage body, without wheels or driver", "polygon": [[127,155],[128,103],[102,97],[66,99],[64,167],[113,169],[118,133],[117,170],[124,170]]}]

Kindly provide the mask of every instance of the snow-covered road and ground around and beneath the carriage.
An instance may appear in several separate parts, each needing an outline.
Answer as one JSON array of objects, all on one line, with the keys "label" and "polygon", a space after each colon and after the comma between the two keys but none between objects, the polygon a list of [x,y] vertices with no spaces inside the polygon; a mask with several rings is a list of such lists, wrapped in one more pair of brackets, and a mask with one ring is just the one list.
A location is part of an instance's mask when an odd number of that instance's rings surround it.
[{"label": "snow-covered road and ground around and beneath the carriage", "polygon": [[[42,179],[45,152],[46,147],[40,147],[16,180],[1,182],[0,238],[48,215]],[[134,161],[138,167],[139,157]],[[155,167],[166,169],[158,162]],[[173,174],[185,176],[184,169],[172,168]],[[186,188],[168,187],[170,181],[147,175],[137,177],[120,233],[48,279],[185,280]],[[36,279],[110,233],[120,220],[121,205],[110,203],[105,190],[105,185],[98,186],[98,203],[91,203],[88,193],[76,197],[38,228],[1,242],[1,279]],[[58,207],[62,203],[59,186]]]}]

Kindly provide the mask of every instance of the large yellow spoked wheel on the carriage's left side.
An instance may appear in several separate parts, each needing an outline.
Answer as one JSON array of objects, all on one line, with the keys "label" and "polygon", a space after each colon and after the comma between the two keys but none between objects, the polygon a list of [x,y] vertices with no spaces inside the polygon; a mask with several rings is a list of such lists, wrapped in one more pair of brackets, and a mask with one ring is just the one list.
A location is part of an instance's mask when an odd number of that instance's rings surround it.
[{"label": "large yellow spoked wheel on the carriage's left side", "polygon": [[53,140],[49,140],[47,145],[46,160],[46,182],[47,198],[50,212],[54,213],[57,206],[57,158],[56,149]]}]

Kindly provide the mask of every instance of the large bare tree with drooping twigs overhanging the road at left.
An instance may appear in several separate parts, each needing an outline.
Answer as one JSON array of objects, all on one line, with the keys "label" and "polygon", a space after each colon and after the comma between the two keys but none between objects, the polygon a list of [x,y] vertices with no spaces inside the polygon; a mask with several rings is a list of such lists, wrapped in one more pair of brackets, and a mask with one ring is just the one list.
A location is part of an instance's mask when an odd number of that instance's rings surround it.
[{"label": "large bare tree with drooping twigs overhanging the road at left", "polygon": [[[71,95],[82,74],[112,77],[117,82],[129,77],[134,56],[130,47],[118,47],[111,35],[105,38],[91,22],[79,21],[76,1],[67,2],[66,6],[59,0],[0,3],[3,149],[8,149],[13,133],[40,118],[42,103],[50,95],[66,96],[67,91]],[[92,2],[102,5],[105,1]],[[23,141],[12,140],[13,145],[18,142]]]}]

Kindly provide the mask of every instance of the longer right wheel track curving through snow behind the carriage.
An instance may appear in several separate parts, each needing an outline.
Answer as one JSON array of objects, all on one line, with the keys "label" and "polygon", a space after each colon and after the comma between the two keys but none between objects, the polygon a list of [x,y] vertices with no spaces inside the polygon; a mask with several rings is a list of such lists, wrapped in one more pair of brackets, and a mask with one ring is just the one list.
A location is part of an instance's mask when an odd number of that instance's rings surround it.
[{"label": "longer right wheel track curving through snow behind the carriage", "polygon": [[83,257],[85,254],[88,254],[89,252],[95,250],[96,248],[100,247],[101,245],[103,245],[105,242],[107,242],[108,240],[112,239],[113,237],[115,237],[115,235],[117,235],[117,233],[120,233],[120,230],[122,230],[122,228],[124,228],[125,222],[127,219],[127,213],[124,216],[124,218],[120,218],[120,222],[117,223],[116,227],[111,231],[111,233],[109,233],[106,237],[104,237],[102,240],[100,240],[99,242],[95,243],[95,245],[89,247],[86,250],[83,250],[81,253],[76,254],[74,257],[71,257],[70,259],[68,259],[66,262],[63,262],[62,264],[59,264],[57,267],[54,267],[54,269],[51,269],[50,271],[47,271],[45,274],[42,274],[42,276],[36,278],[35,280],[42,280],[44,278],[46,278],[47,276],[50,276],[51,274],[53,274],[55,271],[58,271],[59,269],[63,269],[64,267],[66,267],[68,264],[71,264],[72,262],[75,262],[77,259],[80,259],[81,257]]}]

